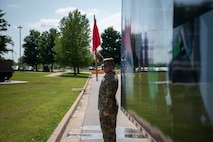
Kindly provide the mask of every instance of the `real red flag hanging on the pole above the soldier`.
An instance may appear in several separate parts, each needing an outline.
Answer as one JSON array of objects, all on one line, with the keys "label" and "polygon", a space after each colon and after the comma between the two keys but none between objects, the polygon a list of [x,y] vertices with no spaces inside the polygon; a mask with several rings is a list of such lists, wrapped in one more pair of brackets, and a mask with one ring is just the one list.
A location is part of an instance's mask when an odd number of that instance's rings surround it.
[{"label": "real red flag hanging on the pole above the soldier", "polygon": [[96,25],[96,19],[94,16],[94,27],[92,32],[92,52],[94,52],[99,45],[101,45],[101,41],[100,41],[100,36],[98,32],[98,27]]}]

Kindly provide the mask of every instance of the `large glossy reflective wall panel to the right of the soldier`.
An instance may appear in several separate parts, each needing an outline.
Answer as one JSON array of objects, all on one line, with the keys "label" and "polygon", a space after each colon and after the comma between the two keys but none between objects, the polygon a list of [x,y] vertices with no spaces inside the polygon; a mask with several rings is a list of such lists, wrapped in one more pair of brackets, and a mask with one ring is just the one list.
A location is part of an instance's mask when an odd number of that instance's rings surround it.
[{"label": "large glossy reflective wall panel to the right of the soldier", "polygon": [[213,0],[122,0],[121,106],[156,141],[213,141]]}]

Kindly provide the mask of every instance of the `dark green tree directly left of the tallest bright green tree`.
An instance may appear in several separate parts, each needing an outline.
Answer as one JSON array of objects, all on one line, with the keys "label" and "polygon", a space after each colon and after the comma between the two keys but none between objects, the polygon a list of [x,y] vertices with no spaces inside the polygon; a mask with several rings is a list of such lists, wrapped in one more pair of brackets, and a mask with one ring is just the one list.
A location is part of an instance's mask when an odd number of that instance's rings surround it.
[{"label": "dark green tree directly left of the tallest bright green tree", "polygon": [[43,65],[52,64],[51,71],[53,71],[53,64],[55,63],[55,38],[59,36],[56,29],[50,29],[49,32],[45,31],[41,34],[39,40],[39,57]]}]

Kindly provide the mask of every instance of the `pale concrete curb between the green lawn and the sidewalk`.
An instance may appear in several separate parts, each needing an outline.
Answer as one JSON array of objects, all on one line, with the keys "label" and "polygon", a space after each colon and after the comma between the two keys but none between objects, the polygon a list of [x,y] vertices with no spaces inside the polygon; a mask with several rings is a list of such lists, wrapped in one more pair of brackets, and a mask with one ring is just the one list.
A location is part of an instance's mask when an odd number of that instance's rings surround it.
[{"label": "pale concrete curb between the green lawn and the sidewalk", "polygon": [[58,126],[56,127],[56,129],[54,130],[54,132],[52,133],[52,135],[50,136],[50,138],[48,139],[47,142],[60,142],[60,140],[64,134],[64,131],[66,130],[66,126],[68,125],[72,115],[75,112],[76,107],[78,106],[78,104],[86,90],[89,80],[90,80],[90,75],[87,79],[87,82],[84,85],[84,89],[81,91],[80,95],[77,97],[75,102],[72,104],[72,106],[70,107],[68,112],[65,114],[65,116],[63,117],[61,122],[58,124]]}]

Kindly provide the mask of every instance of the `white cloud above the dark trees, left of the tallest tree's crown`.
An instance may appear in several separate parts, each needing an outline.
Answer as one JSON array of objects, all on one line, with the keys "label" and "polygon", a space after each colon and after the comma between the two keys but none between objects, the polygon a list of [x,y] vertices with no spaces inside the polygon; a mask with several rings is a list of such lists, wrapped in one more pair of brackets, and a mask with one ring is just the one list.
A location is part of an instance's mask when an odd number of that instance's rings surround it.
[{"label": "white cloud above the dark trees, left of the tallest tree's crown", "polygon": [[40,32],[48,31],[50,28],[57,28],[59,19],[40,19],[36,23],[28,23],[30,29],[35,29]]}]

